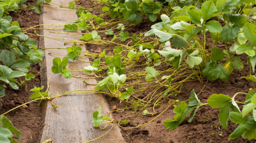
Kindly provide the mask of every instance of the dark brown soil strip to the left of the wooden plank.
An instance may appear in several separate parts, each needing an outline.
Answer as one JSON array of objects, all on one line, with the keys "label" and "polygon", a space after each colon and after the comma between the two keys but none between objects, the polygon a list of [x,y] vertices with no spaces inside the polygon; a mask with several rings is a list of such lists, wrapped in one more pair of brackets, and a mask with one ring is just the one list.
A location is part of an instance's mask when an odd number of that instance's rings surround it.
[{"label": "dark brown soil strip to the left of the wooden plank", "polygon": [[[28,0],[25,4],[29,7],[32,3],[36,3],[36,0]],[[12,21],[18,21],[20,28],[29,28],[38,25],[39,15],[34,10],[21,9],[21,12],[9,13],[12,17]],[[27,30],[28,33],[34,33],[34,29]],[[38,30],[37,30],[38,32]],[[30,36],[39,43],[39,38]],[[40,67],[35,64],[31,64],[30,73],[36,74],[35,78],[31,78],[24,86],[18,90],[12,89],[6,85],[5,96],[0,98],[0,114],[6,111],[31,101],[30,91],[31,88],[40,87]],[[21,78],[23,79],[23,78]],[[12,122],[14,127],[22,133],[21,143],[36,143],[39,136],[39,122],[41,117],[41,107],[37,107],[38,102],[32,102],[26,104],[25,108],[18,108],[7,113],[5,116]],[[14,136],[14,139],[17,139]]]}]

